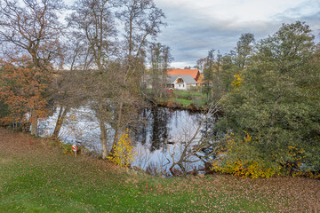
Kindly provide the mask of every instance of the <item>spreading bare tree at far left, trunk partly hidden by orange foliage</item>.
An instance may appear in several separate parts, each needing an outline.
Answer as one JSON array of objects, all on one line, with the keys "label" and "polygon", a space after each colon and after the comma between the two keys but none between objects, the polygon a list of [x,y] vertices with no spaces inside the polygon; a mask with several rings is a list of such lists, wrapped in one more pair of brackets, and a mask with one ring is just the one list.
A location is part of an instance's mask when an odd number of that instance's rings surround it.
[{"label": "spreading bare tree at far left, trunk partly hidden by orange foliage", "polygon": [[[59,54],[60,0],[4,0],[0,4],[0,40],[28,54],[36,72],[46,74]],[[16,51],[18,52],[18,51]],[[41,75],[35,74],[35,77]],[[39,82],[40,79],[34,81]],[[44,84],[41,84],[44,85]],[[31,134],[37,135],[37,109],[31,110]]]}]

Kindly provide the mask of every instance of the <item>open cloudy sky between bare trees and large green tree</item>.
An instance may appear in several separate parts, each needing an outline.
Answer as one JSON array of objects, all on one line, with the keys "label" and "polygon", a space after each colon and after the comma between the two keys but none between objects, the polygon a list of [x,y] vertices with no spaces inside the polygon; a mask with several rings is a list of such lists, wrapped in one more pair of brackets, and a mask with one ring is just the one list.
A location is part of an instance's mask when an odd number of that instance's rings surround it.
[{"label": "open cloudy sky between bare trees and large green tree", "polygon": [[256,40],[282,23],[306,21],[319,40],[320,0],[155,0],[167,28],[157,41],[172,48],[172,67],[195,66],[211,49],[231,51],[241,34]]}]

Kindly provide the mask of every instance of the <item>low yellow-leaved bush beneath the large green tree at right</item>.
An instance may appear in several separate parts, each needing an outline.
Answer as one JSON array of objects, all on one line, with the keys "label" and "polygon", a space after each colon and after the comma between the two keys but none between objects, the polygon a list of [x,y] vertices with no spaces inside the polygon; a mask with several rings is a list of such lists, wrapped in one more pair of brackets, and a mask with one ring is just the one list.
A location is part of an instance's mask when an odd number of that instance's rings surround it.
[{"label": "low yellow-leaved bush beneath the large green tree at right", "polygon": [[257,140],[246,133],[242,140],[228,134],[220,146],[218,157],[212,159],[212,170],[232,174],[237,177],[272,177],[274,175],[304,175],[300,170],[303,162],[303,150],[288,146],[285,158],[291,161],[279,163],[270,156],[261,153]]}]

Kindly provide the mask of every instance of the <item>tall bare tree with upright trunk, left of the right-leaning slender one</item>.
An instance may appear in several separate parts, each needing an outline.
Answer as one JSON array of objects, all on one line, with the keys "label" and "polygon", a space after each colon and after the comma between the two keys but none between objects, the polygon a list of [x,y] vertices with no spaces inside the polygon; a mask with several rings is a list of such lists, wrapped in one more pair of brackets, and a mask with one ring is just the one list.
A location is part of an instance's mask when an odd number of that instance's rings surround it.
[{"label": "tall bare tree with upright trunk, left of the right-leaning slender one", "polygon": [[69,26],[76,29],[75,35],[87,43],[83,78],[79,92],[95,112],[100,122],[102,158],[108,156],[106,122],[111,121],[112,98],[116,92],[116,67],[114,62],[116,28],[109,0],[79,0],[68,18]]}]

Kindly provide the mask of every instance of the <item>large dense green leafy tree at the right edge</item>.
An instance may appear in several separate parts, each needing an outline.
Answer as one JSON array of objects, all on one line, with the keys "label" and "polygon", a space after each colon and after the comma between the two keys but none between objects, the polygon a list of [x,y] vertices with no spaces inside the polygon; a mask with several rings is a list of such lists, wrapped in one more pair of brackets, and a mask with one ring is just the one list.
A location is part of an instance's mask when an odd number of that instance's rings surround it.
[{"label": "large dense green leafy tree at the right edge", "polygon": [[[251,66],[242,72],[243,82],[222,101],[226,115],[216,128],[232,130],[239,139],[247,132],[255,141],[247,152],[256,152],[276,173],[288,162],[290,168],[297,166],[297,154],[306,157],[303,170],[320,170],[320,75],[314,38],[305,23],[284,24],[258,43]],[[254,160],[252,154],[242,160]]]}]

